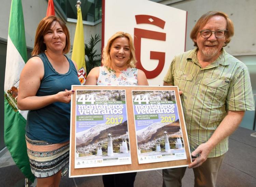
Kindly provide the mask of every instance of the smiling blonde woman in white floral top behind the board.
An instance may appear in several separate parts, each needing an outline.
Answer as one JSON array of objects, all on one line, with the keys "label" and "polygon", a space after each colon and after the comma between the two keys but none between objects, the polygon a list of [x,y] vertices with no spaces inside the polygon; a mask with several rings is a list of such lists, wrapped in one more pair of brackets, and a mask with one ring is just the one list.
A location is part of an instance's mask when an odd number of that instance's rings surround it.
[{"label": "smiling blonde woman in white floral top behind the board", "polygon": [[[148,85],[146,75],[136,68],[134,44],[130,34],[115,33],[103,49],[101,67],[93,68],[86,85]],[[133,187],[136,172],[103,175],[104,187]]]}]

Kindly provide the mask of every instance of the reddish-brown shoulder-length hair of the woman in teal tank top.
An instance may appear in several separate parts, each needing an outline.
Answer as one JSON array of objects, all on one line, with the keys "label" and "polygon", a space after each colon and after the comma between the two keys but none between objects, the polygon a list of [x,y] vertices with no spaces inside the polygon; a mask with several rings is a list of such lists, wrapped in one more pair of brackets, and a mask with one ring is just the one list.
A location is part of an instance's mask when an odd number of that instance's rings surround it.
[{"label": "reddish-brown shoulder-length hair of the woman in teal tank top", "polygon": [[60,19],[57,18],[56,16],[47,16],[43,18],[37,27],[37,32],[35,33],[35,42],[34,42],[34,49],[32,51],[32,56],[37,55],[39,53],[42,53],[46,50],[46,45],[44,43],[44,35],[46,32],[50,29],[52,23],[56,21],[60,24],[60,26],[63,29],[63,32],[66,35],[66,46],[63,49],[63,53],[68,53],[70,49],[70,35],[67,26],[65,23]]}]

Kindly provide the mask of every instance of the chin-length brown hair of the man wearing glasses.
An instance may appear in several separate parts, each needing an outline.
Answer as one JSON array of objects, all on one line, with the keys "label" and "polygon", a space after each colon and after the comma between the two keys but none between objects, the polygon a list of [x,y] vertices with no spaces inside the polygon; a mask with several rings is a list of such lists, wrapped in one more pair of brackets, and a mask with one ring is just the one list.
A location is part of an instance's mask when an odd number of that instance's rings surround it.
[{"label": "chin-length brown hair of the man wearing glasses", "polygon": [[[209,11],[209,12],[205,13],[204,15],[202,15],[198,19],[198,21],[196,22],[196,25],[194,26],[194,28],[192,29],[192,31],[190,33],[190,38],[194,41],[194,39],[197,38],[197,34],[200,31],[200,29],[213,16],[222,16],[227,21],[227,28],[226,28],[226,30],[228,30],[228,32],[227,32],[227,34],[225,36],[226,37],[225,44],[223,45],[223,47],[225,47],[230,42],[231,37],[234,35],[234,25],[233,25],[233,22],[229,19],[228,15],[225,14],[224,12]],[[194,46],[197,46],[197,43],[195,41],[194,41]]]}]

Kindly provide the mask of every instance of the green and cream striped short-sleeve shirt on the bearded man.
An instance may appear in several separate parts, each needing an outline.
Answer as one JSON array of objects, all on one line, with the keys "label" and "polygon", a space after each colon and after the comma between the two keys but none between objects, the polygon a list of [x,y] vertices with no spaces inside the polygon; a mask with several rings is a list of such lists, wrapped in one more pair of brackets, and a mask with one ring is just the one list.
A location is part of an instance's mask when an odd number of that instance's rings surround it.
[{"label": "green and cream striped short-sleeve shirt on the bearded man", "polygon": [[[197,49],[174,57],[163,81],[183,92],[181,101],[191,152],[207,142],[228,110],[255,110],[248,68],[224,49],[216,61],[202,68]],[[228,150],[228,137],[209,154]]]}]

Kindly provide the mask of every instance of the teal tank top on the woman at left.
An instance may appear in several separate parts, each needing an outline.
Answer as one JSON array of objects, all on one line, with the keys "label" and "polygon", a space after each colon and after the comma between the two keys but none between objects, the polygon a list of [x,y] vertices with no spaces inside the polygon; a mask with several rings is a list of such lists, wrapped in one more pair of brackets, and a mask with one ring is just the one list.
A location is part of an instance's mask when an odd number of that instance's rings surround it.
[{"label": "teal tank top on the woman at left", "polygon": [[[80,85],[73,62],[68,59],[69,71],[59,74],[49,62],[45,53],[38,55],[44,65],[44,76],[36,96],[53,95],[65,89],[71,90],[71,85]],[[26,136],[32,140],[43,140],[51,143],[61,143],[70,136],[70,103],[55,102],[46,107],[30,110],[27,116]]]}]

